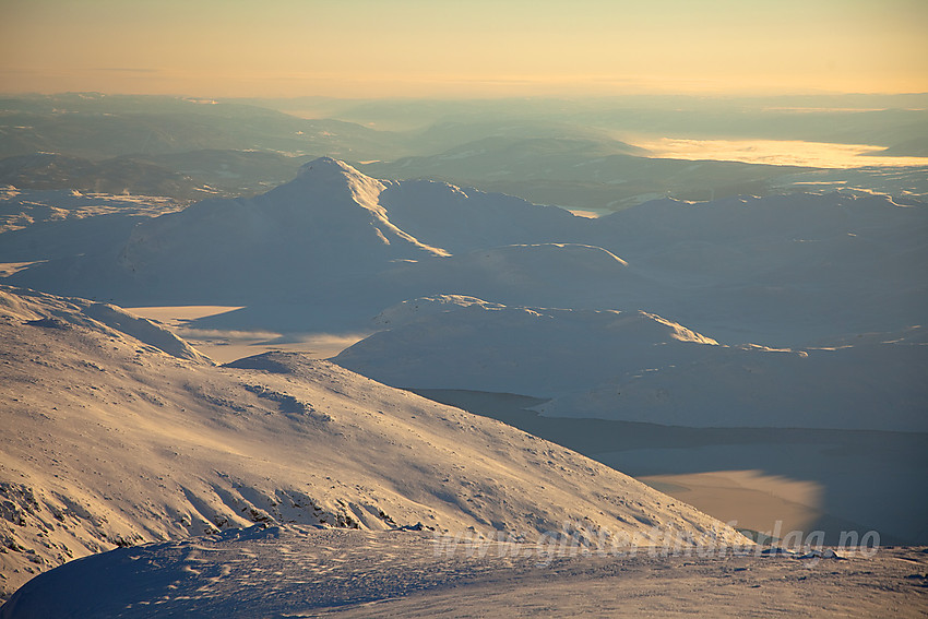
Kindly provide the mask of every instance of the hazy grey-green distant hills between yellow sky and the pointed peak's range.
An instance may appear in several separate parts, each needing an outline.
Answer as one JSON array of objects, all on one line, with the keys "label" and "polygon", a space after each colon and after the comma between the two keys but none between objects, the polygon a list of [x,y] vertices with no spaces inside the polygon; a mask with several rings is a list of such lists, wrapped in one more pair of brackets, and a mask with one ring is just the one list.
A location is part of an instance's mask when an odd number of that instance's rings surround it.
[{"label": "hazy grey-green distant hills between yellow sky and the pointed peak's range", "polygon": [[[5,97],[0,98],[0,157],[55,154],[102,168],[94,172],[99,184],[80,169],[66,170],[62,162],[53,174],[39,169],[36,178],[28,172],[5,175],[12,180],[0,175],[0,182],[20,182],[21,189],[112,187],[105,190],[135,193],[159,188],[181,200],[202,198],[203,191],[250,197],[293,178],[300,164],[328,155],[352,162],[376,178],[444,180],[534,203],[608,213],[666,197],[706,201],[792,193],[802,191],[808,180],[790,175],[829,171],[661,158],[631,143],[644,136],[871,144],[883,146],[889,156],[919,155],[924,150],[926,112],[913,109],[921,97],[846,98],[847,108],[831,99],[826,108],[800,99],[770,108],[752,100],[632,97],[611,103],[404,100],[402,105],[313,100],[302,109],[299,102],[99,93]],[[799,105],[809,107],[787,107]],[[865,109],[875,105],[908,108]],[[397,124],[398,117],[405,120]],[[0,168],[20,166],[19,158]],[[871,164],[872,158],[860,157],[860,169]],[[903,177],[906,170],[904,180],[899,174],[891,178],[856,174],[852,186],[889,191],[896,198],[924,198],[925,170],[905,168]],[[844,174],[835,171],[840,174],[833,183]],[[155,182],[159,175],[174,178],[176,186]]]}]

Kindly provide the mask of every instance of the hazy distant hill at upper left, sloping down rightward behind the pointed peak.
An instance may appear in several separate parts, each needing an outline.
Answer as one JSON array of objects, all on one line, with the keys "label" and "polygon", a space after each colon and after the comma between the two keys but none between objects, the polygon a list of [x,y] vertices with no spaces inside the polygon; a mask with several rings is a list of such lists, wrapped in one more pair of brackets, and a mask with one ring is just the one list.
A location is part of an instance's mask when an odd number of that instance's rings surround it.
[{"label": "hazy distant hill at upper left, sloping down rightward behind the pointed peak", "polygon": [[0,156],[36,152],[93,160],[203,150],[259,150],[293,155],[331,153],[376,158],[389,134],[337,120],[178,97],[74,93],[0,98]]}]

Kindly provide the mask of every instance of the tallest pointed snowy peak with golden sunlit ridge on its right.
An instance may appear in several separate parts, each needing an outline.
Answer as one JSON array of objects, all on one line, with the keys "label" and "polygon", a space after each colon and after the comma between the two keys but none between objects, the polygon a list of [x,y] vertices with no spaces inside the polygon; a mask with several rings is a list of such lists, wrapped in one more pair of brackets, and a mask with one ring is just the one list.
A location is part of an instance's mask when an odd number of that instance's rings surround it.
[{"label": "tallest pointed snowy peak with golden sunlit ridge on its right", "polygon": [[[448,255],[390,222],[380,204],[384,189],[344,162],[314,159],[267,193],[206,200],[141,223],[119,266],[150,289],[261,296],[287,289],[287,270],[298,270],[300,287],[309,289],[378,273],[393,260]],[[205,282],[191,277],[191,264]]]}]

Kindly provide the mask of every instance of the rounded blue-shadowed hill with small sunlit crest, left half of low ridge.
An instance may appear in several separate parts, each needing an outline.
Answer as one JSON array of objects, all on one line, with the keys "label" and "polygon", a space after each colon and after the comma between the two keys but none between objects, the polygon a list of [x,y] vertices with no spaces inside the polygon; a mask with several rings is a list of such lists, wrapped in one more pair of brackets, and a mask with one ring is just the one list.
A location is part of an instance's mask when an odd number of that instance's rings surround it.
[{"label": "rounded blue-shadowed hill with small sunlit crest, left half of low ridge", "polygon": [[645,312],[540,309],[469,297],[406,301],[386,330],[333,360],[402,388],[552,396],[616,374],[685,362],[715,341]]}]

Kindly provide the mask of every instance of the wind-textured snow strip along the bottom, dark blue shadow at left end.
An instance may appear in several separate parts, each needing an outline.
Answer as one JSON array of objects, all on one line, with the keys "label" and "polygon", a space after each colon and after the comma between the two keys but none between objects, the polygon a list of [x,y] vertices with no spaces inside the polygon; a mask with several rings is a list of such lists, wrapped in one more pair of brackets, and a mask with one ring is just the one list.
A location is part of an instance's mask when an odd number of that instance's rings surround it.
[{"label": "wind-textured snow strip along the bottom, dark blue shadow at left end", "polygon": [[769,556],[512,544],[430,533],[227,531],[73,561],[0,618],[924,617],[928,553]]}]

